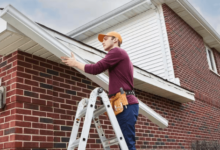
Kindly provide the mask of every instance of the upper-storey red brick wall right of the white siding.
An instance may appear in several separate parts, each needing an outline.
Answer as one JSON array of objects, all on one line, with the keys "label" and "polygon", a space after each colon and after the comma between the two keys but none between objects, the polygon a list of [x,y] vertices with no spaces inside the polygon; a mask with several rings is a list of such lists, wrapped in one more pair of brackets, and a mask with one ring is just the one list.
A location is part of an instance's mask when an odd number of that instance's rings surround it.
[{"label": "upper-storey red brick wall right of the white siding", "polygon": [[[163,12],[175,77],[200,99],[220,103],[220,76],[209,70],[203,38],[165,4]],[[220,53],[214,54],[220,71]]]}]

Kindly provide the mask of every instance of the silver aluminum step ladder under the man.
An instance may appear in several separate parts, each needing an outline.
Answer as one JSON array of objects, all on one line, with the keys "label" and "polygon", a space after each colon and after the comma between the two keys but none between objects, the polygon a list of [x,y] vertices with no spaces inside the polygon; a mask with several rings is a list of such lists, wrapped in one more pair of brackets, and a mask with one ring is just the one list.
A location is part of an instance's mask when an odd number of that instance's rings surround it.
[{"label": "silver aluminum step ladder under the man", "polygon": [[[95,110],[97,97],[101,97],[103,105]],[[116,137],[114,138],[107,139],[101,127],[99,116],[102,115],[104,112],[107,112],[113,130],[115,131]],[[85,120],[82,128],[81,136],[79,139],[77,139],[77,134],[80,127],[80,121],[81,118],[84,116],[85,116]],[[91,92],[89,99],[84,98],[79,102],[67,150],[73,150],[76,147],[78,147],[78,150],[86,149],[86,144],[88,140],[92,119],[95,123],[95,127],[99,134],[99,138],[101,140],[104,150],[110,150],[111,145],[118,145],[118,144],[120,145],[120,148],[122,150],[128,150],[126,141],[121,132],[121,128],[118,124],[112,106],[110,104],[109,98],[102,88],[95,88]]]}]

